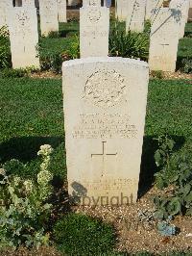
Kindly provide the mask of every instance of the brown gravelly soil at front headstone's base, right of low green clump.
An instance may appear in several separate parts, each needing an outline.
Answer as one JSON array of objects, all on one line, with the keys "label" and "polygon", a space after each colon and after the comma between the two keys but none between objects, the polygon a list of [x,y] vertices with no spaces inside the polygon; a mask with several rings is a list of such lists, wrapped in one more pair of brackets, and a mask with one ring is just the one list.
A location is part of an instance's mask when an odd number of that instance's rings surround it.
[{"label": "brown gravelly soil at front headstone's base, right of low green clump", "polygon": [[136,253],[149,251],[152,253],[169,252],[173,250],[188,251],[192,249],[192,218],[179,217],[171,221],[180,233],[172,237],[163,237],[156,230],[156,221],[140,221],[138,212],[153,211],[152,197],[159,192],[151,189],[134,205],[117,207],[78,207],[77,213],[84,213],[94,218],[102,218],[114,225],[117,232],[118,251]]}]

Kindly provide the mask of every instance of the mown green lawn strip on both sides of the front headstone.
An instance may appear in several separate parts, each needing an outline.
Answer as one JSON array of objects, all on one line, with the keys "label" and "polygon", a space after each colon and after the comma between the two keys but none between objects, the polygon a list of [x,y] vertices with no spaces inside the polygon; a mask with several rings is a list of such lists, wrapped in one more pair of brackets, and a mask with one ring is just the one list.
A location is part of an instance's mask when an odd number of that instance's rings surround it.
[{"label": "mown green lawn strip on both sides of the front headstone", "polygon": [[[50,143],[56,148],[52,171],[60,177],[65,176],[61,80],[2,79],[0,85],[1,163],[12,158],[21,160],[29,166],[29,171],[22,175],[33,176],[38,171],[36,152],[39,146]],[[182,148],[191,147],[191,95],[190,81],[151,80],[143,148],[144,169],[154,167],[153,138],[161,134],[174,136]]]}]

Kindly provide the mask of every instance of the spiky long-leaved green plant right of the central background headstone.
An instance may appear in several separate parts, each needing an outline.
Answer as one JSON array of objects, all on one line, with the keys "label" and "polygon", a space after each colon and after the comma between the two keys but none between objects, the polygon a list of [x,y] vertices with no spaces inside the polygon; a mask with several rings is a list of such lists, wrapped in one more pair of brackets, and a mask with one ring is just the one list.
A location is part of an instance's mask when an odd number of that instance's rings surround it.
[{"label": "spiky long-leaved green plant right of the central background headstone", "polygon": [[109,56],[147,61],[149,35],[128,31],[118,23],[109,34]]}]

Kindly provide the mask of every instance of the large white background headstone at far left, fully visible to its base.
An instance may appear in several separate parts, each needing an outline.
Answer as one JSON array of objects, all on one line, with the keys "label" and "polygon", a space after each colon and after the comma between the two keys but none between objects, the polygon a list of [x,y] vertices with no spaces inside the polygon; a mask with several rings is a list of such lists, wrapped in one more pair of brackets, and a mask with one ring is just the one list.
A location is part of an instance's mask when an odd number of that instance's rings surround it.
[{"label": "large white background headstone at far left, fully visible to its base", "polygon": [[12,67],[39,67],[36,8],[15,7],[9,20]]}]

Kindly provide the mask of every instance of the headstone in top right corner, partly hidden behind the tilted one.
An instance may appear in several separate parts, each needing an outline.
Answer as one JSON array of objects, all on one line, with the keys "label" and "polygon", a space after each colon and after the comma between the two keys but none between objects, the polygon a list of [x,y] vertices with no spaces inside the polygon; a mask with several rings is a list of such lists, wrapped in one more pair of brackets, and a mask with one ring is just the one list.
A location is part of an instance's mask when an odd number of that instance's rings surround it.
[{"label": "headstone in top right corner, partly hidden behind the tilted one", "polygon": [[189,0],[172,0],[170,3],[170,8],[179,10],[181,13],[179,38],[183,38],[185,23],[188,19]]}]

